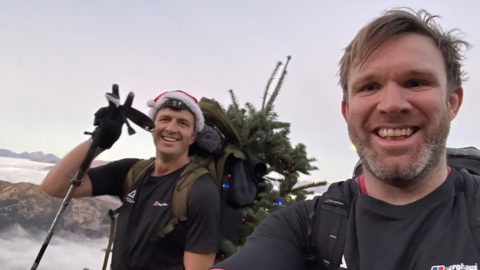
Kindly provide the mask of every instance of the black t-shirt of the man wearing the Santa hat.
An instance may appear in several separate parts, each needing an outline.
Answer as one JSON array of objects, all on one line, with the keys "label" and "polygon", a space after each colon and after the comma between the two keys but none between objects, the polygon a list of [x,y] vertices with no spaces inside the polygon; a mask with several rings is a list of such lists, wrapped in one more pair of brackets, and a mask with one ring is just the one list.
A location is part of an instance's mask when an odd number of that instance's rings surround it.
[{"label": "black t-shirt of the man wearing the Santa hat", "polygon": [[[137,159],[123,159],[89,170],[93,195],[122,196],[126,175]],[[216,253],[220,232],[220,197],[209,175],[193,184],[187,201],[188,220],[157,236],[173,218],[171,209],[176,181],[185,169],[154,177],[147,173],[124,198],[112,255],[114,270],[184,269],[184,251]],[[153,169],[153,168],[152,168]]]}]

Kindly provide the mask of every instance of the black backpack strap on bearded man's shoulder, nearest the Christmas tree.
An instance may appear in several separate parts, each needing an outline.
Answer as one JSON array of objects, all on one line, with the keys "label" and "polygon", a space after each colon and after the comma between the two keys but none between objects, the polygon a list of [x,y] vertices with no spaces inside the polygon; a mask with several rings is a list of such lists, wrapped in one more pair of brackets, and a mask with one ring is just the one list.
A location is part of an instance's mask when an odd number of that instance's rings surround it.
[{"label": "black backpack strap on bearded man's shoulder, nearest the Christmas tree", "polygon": [[316,204],[311,241],[317,262],[314,264],[316,268],[311,269],[337,269],[342,263],[352,181],[331,184]]}]

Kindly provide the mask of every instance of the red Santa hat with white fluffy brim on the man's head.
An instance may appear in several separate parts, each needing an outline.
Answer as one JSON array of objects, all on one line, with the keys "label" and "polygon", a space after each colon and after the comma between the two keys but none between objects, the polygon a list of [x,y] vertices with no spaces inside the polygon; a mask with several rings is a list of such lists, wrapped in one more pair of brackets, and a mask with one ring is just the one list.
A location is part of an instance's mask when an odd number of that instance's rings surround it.
[{"label": "red Santa hat with white fluffy brim on the man's head", "polygon": [[168,91],[160,94],[155,99],[150,99],[147,101],[147,106],[150,107],[148,111],[148,116],[155,120],[155,114],[158,111],[158,108],[162,106],[169,99],[177,99],[183,101],[183,103],[191,110],[193,116],[195,116],[195,128],[197,132],[203,129],[204,118],[200,106],[198,106],[198,101],[193,96],[183,92],[182,90]]}]

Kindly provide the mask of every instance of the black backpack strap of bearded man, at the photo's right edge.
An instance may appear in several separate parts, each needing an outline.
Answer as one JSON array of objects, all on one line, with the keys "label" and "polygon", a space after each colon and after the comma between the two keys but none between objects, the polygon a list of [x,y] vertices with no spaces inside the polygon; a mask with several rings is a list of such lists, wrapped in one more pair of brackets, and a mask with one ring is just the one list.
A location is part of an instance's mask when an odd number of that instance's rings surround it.
[{"label": "black backpack strap of bearded man, at the photo's right edge", "polygon": [[480,176],[470,174],[466,169],[461,169],[460,173],[464,179],[463,191],[467,204],[468,222],[480,253]]}]

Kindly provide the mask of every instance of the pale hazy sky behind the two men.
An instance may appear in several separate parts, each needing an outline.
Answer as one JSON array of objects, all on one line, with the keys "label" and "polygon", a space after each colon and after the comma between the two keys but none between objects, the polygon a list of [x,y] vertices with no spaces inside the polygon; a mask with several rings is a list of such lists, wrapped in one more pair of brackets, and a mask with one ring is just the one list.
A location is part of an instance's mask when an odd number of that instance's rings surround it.
[{"label": "pale hazy sky behind the two men", "polygon": [[[0,0],[0,148],[64,156],[93,131],[114,83],[122,100],[135,93],[142,112],[176,89],[224,106],[233,89],[259,108],[276,63],[290,55],[275,110],[319,168],[300,180],[344,180],[358,157],[340,112],[337,63],[361,27],[399,6],[440,15],[443,28],[473,44],[447,145],[480,146],[479,1]],[[153,156],[150,134],[135,129],[98,159]]]}]

